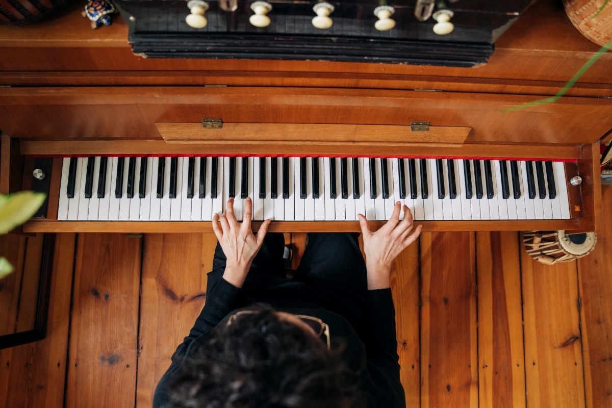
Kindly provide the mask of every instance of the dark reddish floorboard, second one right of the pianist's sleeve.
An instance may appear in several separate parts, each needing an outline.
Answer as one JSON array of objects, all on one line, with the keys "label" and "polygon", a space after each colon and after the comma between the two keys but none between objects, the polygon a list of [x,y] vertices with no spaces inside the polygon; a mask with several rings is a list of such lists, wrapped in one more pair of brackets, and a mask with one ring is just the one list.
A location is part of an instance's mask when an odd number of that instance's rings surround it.
[{"label": "dark reddish floorboard, second one right of the pianist's sleeve", "polygon": [[421,234],[421,407],[478,406],[473,232]]}]

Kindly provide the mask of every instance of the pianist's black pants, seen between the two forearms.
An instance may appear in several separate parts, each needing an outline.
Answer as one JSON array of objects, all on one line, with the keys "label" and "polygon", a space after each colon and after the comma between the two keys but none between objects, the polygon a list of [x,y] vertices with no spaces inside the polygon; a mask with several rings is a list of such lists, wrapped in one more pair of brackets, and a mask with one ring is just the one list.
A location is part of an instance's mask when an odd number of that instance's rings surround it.
[{"label": "pianist's black pants, seen between the two forearms", "polygon": [[[359,250],[359,234],[312,233],[293,276],[283,266],[285,238],[269,233],[255,256],[239,295],[239,307],[253,302],[312,304],[344,317],[361,332],[367,275]],[[225,254],[217,243],[206,293],[211,293],[225,271]]]}]

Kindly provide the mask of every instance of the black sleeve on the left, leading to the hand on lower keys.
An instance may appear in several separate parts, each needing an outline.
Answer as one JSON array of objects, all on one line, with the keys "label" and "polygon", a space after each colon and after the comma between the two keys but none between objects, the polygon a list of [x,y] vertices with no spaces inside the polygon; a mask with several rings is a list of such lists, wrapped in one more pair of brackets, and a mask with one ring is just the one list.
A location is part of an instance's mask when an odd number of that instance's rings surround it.
[{"label": "black sleeve on the left, leading to the hand on lower keys", "polygon": [[163,374],[153,396],[153,407],[163,408],[170,402],[170,394],[168,394],[168,386],[172,381],[172,377],[178,371],[181,363],[189,354],[190,347],[193,346],[193,340],[206,335],[210,332],[225,316],[231,313],[234,308],[234,301],[240,289],[233,286],[223,278],[218,281],[210,294],[206,294],[206,303],[200,312],[200,316],[196,319],[195,324],[189,332],[189,335],[183,339],[183,343],[177,347],[172,355],[172,363],[168,371]]}]

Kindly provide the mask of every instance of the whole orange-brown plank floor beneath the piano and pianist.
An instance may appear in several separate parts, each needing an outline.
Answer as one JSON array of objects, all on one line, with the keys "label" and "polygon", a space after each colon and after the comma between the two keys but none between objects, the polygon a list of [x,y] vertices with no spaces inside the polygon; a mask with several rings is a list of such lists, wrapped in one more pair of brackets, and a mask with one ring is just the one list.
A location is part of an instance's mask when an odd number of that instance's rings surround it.
[{"label": "whole orange-brown plank floor beneath the piano and pianist", "polygon": [[[612,208],[612,188],[603,204]],[[611,407],[612,216],[603,219],[579,262],[534,262],[518,232],[424,233],[402,253],[392,289],[408,406]],[[4,240],[24,256],[23,243]],[[215,242],[59,235],[47,338],[0,351],[0,405],[150,407],[204,305]]]}]

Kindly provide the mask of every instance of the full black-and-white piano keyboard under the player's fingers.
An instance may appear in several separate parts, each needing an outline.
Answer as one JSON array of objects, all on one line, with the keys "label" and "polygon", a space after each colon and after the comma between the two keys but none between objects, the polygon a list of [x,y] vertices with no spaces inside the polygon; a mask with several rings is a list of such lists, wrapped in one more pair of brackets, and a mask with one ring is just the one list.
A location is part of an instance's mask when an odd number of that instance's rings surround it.
[{"label": "full black-and-white piano keyboard under the player's fingers", "polygon": [[234,198],[242,220],[569,219],[561,161],[329,157],[67,157],[58,220],[210,221]]}]

